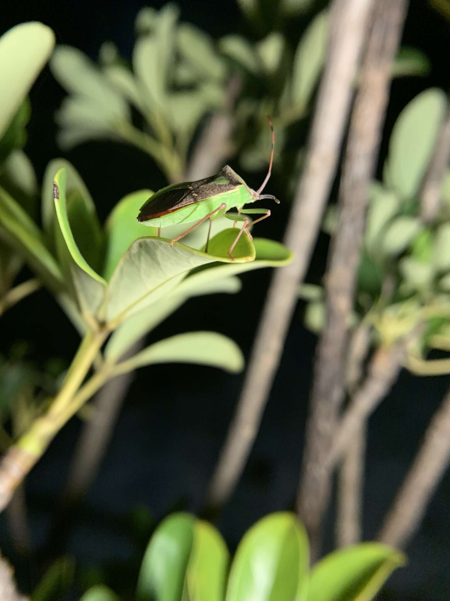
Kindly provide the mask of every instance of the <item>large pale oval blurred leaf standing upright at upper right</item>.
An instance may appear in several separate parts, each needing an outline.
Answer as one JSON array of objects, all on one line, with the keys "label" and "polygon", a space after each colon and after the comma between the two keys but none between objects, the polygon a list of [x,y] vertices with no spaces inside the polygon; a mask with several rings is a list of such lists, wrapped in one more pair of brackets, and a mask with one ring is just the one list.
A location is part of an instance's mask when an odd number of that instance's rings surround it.
[{"label": "large pale oval blurred leaf standing upright at upper right", "polygon": [[402,198],[412,198],[427,169],[446,109],[442,90],[418,94],[401,111],[389,141],[389,184]]}]

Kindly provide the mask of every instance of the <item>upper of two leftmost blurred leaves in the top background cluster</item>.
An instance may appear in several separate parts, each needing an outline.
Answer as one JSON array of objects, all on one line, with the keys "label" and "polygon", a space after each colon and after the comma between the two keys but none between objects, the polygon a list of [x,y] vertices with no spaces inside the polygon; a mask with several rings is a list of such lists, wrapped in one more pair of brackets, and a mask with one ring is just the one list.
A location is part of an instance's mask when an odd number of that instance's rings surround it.
[{"label": "upper of two leftmost blurred leaves in the top background cluster", "polygon": [[[53,75],[68,93],[75,94],[85,105],[92,106],[91,117],[113,122],[128,119],[127,102],[101,75],[100,69],[80,50],[71,46],[58,46],[50,61]],[[70,117],[70,115],[68,115]]]}]

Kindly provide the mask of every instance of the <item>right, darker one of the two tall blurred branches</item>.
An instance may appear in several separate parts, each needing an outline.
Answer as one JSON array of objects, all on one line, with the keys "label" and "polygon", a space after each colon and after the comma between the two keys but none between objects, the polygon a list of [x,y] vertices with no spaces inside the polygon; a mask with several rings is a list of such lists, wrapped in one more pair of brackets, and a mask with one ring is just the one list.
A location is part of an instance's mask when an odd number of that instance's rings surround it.
[{"label": "right, darker one of the two tall blurred branches", "polygon": [[310,535],[313,558],[319,552],[323,513],[331,486],[331,471],[326,468],[326,458],[344,395],[348,317],[353,307],[368,186],[376,166],[388,102],[391,64],[400,41],[406,4],[406,0],[378,0],[374,3],[361,83],[350,122],[340,186],[338,225],[332,239],[325,281],[326,323],[314,368],[298,497],[298,512]]}]

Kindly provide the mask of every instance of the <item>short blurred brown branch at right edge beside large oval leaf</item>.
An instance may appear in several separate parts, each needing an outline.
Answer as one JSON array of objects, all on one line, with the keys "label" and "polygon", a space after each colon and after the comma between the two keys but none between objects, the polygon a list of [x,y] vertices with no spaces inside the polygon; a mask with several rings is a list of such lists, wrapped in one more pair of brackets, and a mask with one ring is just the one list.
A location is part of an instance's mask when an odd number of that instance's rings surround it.
[{"label": "short blurred brown branch at right edge beside large oval leaf", "polygon": [[450,163],[450,108],[437,135],[433,156],[425,173],[421,190],[421,218],[425,223],[433,221],[439,211],[440,189],[445,170]]}]

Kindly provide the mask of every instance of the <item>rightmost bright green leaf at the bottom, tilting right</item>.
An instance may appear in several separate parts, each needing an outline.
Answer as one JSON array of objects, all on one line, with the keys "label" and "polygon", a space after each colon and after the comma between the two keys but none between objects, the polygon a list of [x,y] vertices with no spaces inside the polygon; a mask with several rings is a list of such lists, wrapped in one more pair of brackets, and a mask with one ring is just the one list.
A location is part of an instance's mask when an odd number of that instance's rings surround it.
[{"label": "rightmost bright green leaf at the bottom, tilting right", "polygon": [[311,572],[308,601],[370,601],[405,556],[379,543],[335,551]]}]

